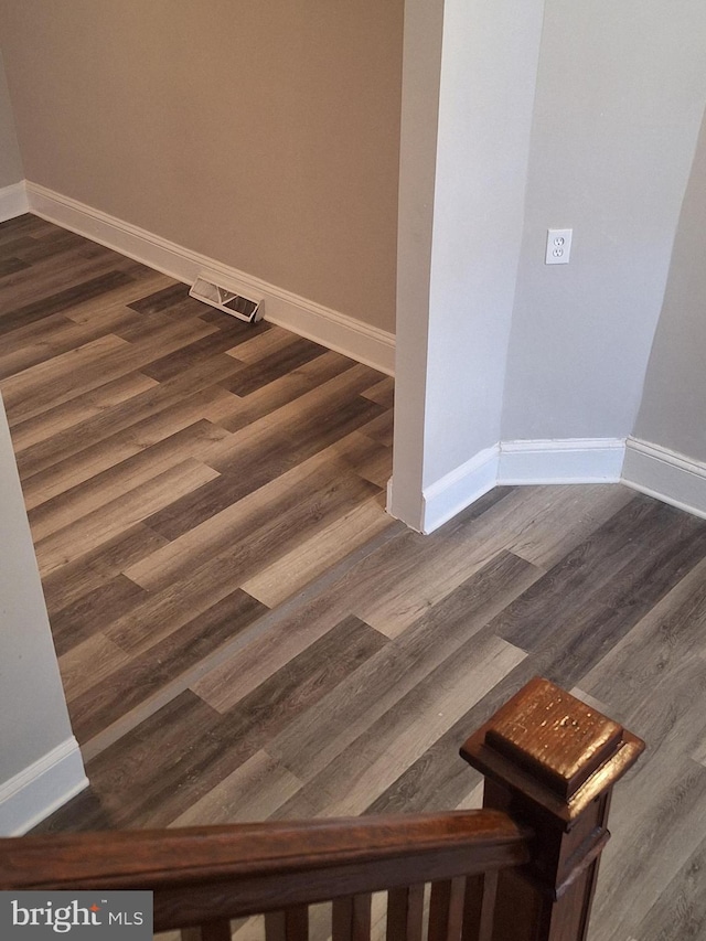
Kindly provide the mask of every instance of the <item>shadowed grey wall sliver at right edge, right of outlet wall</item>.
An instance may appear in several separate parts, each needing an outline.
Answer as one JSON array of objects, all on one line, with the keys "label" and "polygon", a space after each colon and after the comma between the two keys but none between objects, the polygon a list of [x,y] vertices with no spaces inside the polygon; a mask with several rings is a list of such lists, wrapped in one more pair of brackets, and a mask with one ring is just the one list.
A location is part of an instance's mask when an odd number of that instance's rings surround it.
[{"label": "shadowed grey wall sliver at right edge, right of outlet wall", "polygon": [[706,461],[706,120],[674,242],[635,437]]}]

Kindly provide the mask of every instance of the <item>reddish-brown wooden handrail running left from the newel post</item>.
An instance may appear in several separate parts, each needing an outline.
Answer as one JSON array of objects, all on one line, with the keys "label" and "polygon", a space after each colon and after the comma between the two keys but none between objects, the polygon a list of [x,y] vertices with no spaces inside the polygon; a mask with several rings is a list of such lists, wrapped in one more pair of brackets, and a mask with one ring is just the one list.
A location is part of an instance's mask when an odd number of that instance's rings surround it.
[{"label": "reddish-brown wooden handrail running left from the newel post", "polygon": [[4,841],[0,888],[153,889],[156,930],[474,875],[530,859],[498,811]]}]

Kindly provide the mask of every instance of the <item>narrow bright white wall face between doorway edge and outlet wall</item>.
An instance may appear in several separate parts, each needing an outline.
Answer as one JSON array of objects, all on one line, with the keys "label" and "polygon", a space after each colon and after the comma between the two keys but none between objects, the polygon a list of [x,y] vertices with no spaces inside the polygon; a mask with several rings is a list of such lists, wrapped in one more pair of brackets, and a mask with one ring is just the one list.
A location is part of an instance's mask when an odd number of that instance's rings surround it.
[{"label": "narrow bright white wall face between doorway edge and outlet wall", "polygon": [[500,437],[543,6],[446,3],[425,486]]}]

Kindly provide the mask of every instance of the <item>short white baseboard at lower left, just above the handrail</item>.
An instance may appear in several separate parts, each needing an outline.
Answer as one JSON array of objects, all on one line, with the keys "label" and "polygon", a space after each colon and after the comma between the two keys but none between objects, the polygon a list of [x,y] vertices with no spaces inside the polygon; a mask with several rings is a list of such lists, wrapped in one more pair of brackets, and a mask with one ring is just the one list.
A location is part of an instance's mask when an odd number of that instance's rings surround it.
[{"label": "short white baseboard at lower left, just above the handrail", "polygon": [[22,836],[88,787],[72,736],[0,784],[0,836]]}]

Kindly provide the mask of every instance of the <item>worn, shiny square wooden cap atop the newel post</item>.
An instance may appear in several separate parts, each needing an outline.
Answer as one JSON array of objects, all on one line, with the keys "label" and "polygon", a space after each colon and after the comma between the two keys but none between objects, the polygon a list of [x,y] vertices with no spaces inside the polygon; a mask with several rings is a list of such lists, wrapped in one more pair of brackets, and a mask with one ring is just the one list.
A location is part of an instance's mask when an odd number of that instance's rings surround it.
[{"label": "worn, shiny square wooden cap atop the newel post", "polygon": [[618,723],[536,677],[469,738],[461,756],[570,824],[643,749]]}]

